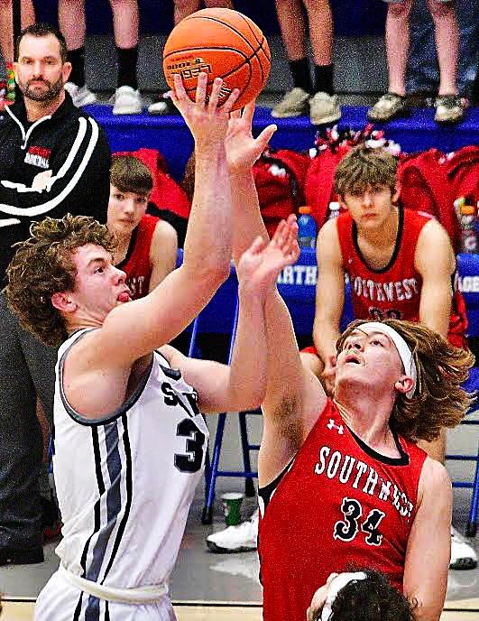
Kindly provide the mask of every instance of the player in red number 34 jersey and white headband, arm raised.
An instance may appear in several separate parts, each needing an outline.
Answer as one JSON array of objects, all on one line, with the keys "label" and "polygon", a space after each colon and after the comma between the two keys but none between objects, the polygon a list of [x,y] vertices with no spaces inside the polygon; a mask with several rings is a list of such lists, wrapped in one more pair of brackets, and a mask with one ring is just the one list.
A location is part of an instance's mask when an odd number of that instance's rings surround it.
[{"label": "player in red number 34 jersey and white headband, arm raised", "polygon": [[[266,231],[251,170],[262,147],[251,133],[253,106],[232,117],[226,157],[237,262]],[[350,563],[382,570],[418,602],[420,621],[437,621],[452,493],[444,466],[416,440],[433,440],[463,418],[470,399],[461,384],[474,357],[419,323],[359,320],[337,344],[333,402],[302,365],[277,291],[265,315],[258,458],[264,621],[304,621],[318,584]]]}]

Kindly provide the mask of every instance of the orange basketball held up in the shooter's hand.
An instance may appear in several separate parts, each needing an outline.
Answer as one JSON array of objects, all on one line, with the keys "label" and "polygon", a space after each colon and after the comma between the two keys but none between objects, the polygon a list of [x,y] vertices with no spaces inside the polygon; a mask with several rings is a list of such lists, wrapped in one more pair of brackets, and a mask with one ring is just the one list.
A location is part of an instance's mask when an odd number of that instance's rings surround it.
[{"label": "orange basketball held up in the shooter's hand", "polygon": [[234,88],[240,95],[233,109],[244,107],[261,92],[270,74],[271,53],[263,32],[246,15],[232,9],[203,9],[181,20],[170,32],[163,50],[163,70],[173,88],[179,73],[190,99],[195,99],[198,74],[223,79],[219,104]]}]

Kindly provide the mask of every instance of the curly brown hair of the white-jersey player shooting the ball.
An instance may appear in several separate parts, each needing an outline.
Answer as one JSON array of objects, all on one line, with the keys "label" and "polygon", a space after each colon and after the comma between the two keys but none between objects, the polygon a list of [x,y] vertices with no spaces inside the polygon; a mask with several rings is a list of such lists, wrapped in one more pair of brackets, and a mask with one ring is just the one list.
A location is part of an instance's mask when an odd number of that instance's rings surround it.
[{"label": "curly brown hair of the white-jersey player shooting the ball", "polygon": [[113,253],[115,240],[94,218],[71,214],[33,222],[30,235],[15,244],[14,258],[6,270],[5,296],[23,328],[46,345],[58,346],[68,332],[51,296],[74,291],[77,268],[73,255],[87,244],[103,246]]}]

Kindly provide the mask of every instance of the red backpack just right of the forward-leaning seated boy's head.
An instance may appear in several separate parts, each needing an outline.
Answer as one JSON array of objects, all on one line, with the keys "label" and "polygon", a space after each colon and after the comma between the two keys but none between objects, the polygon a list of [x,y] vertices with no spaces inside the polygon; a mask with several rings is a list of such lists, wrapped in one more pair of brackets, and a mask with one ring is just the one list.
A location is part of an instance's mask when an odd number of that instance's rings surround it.
[{"label": "red backpack just right of the forward-leaning seated boy's head", "polygon": [[454,210],[455,192],[447,176],[447,158],[429,149],[402,160],[398,167],[401,203],[405,209],[425,211],[446,228],[455,252],[459,252],[461,231]]}]

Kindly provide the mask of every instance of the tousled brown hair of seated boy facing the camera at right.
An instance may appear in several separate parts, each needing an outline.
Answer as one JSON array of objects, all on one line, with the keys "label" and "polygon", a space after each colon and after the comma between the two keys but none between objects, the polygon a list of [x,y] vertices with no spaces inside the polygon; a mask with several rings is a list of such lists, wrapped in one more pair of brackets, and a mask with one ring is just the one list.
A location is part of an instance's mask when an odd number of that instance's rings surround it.
[{"label": "tousled brown hair of seated boy facing the camera at right", "polygon": [[335,188],[344,199],[345,194],[363,193],[368,188],[396,188],[396,158],[382,147],[358,144],[336,166]]}]

